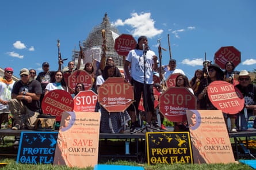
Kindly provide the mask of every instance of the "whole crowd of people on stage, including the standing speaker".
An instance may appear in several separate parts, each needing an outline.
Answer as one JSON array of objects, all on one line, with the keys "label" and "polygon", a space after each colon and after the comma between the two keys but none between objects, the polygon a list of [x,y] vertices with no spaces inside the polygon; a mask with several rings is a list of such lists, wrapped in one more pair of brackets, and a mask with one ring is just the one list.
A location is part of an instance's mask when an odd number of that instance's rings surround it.
[{"label": "whole crowd of people on stage, including the standing speaker", "polygon": [[[41,102],[44,95],[49,91],[60,89],[69,91],[64,74],[72,74],[80,68],[81,56],[79,56],[78,65],[75,68],[74,61],[68,62],[68,70],[50,71],[49,63],[42,64],[42,72],[36,75],[35,69],[22,68],[20,70],[20,79],[18,82],[12,80],[13,68],[5,68],[4,76],[0,79],[0,111],[10,111],[13,122],[12,129],[19,130],[23,128],[33,129],[36,117],[42,114]],[[59,61],[59,65],[62,64]],[[244,97],[244,109],[235,115],[235,125],[238,130],[246,130],[248,118],[255,114],[256,110],[256,86],[251,82],[255,79],[253,72],[246,70],[235,71],[235,65],[232,61],[227,61],[225,69],[219,65],[212,64],[211,61],[204,61],[203,68],[194,72],[194,77],[189,80],[182,69],[178,69],[176,60],[169,61],[168,69],[164,74],[159,74],[161,84],[155,84],[153,75],[158,70],[158,57],[150,50],[146,36],[140,36],[135,49],[129,51],[124,63],[124,74],[120,73],[119,68],[114,64],[112,57],[105,61],[102,59],[100,68],[93,68],[92,63],[86,63],[83,68],[88,72],[93,80],[91,90],[97,92],[97,88],[110,77],[123,77],[133,86],[134,102],[123,113],[108,113],[104,107],[97,103],[95,111],[101,111],[101,133],[122,133],[130,122],[129,131],[132,133],[136,129],[138,119],[139,102],[143,98],[144,110],[146,113],[146,129],[151,125],[158,127],[159,123],[153,123],[155,107],[153,88],[157,88],[159,94],[166,80],[171,74],[179,74],[175,81],[176,87],[186,87],[197,98],[198,110],[216,110],[208,97],[208,86],[216,80],[224,80],[234,84],[242,92]],[[60,67],[59,67],[60,68]],[[95,71],[94,71],[95,70]],[[156,86],[157,85],[157,86]],[[74,98],[79,91],[85,90],[83,83],[75,86],[75,91],[71,94]],[[238,117],[240,120],[238,121]],[[8,121],[6,114],[1,114],[1,124]],[[238,123],[240,122],[240,123]],[[163,116],[161,116],[161,126],[159,129],[166,130],[163,125]],[[175,122],[175,131],[188,130],[188,124],[184,122]]]}]

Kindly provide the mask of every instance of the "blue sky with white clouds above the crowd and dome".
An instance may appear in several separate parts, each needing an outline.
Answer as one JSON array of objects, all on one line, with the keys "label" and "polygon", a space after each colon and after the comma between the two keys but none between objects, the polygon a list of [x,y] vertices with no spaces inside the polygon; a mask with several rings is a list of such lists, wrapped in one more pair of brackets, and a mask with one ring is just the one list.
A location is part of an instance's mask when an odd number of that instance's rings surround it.
[{"label": "blue sky with white clouds above the crowd and dome", "polygon": [[44,61],[51,70],[58,69],[57,40],[62,57],[71,60],[79,41],[86,40],[107,13],[121,34],[132,34],[136,40],[147,36],[157,55],[157,40],[162,38],[161,45],[167,49],[162,51],[162,64],[170,60],[169,34],[171,55],[189,79],[202,68],[205,53],[213,61],[215,52],[224,46],[241,52],[236,70],[253,71],[255,6],[254,0],[0,1],[0,67],[13,67],[16,76],[21,68],[40,72]]}]

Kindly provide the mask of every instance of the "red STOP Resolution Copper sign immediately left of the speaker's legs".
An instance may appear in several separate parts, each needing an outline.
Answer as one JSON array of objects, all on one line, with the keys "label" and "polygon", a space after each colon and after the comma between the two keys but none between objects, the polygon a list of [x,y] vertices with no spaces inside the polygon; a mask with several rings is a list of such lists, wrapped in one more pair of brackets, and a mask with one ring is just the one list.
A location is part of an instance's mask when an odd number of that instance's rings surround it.
[{"label": "red STOP Resolution Copper sign immediately left of the speaker's legs", "polygon": [[108,78],[98,88],[98,102],[109,112],[123,112],[133,100],[133,86],[124,78]]}]

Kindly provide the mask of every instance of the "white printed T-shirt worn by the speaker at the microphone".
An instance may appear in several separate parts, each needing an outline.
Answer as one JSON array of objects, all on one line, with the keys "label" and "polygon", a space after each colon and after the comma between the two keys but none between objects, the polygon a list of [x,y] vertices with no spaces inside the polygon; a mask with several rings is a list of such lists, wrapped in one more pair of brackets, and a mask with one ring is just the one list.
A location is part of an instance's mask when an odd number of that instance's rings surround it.
[{"label": "white printed T-shirt worn by the speaker at the microphone", "polygon": [[144,56],[143,50],[133,49],[129,51],[127,56],[127,61],[131,63],[131,77],[137,82],[146,84],[153,84],[153,69],[152,65],[154,64],[153,56],[155,52],[148,50],[146,53],[146,63],[145,63],[145,78],[144,79]]}]

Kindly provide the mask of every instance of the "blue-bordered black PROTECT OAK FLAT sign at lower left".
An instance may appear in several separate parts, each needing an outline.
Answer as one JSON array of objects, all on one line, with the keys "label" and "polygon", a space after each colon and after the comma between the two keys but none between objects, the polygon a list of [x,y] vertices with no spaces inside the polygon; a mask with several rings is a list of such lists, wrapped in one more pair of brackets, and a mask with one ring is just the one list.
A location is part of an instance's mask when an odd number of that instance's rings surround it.
[{"label": "blue-bordered black PROTECT OAK FLAT sign at lower left", "polygon": [[58,132],[21,132],[17,163],[52,164]]}]

